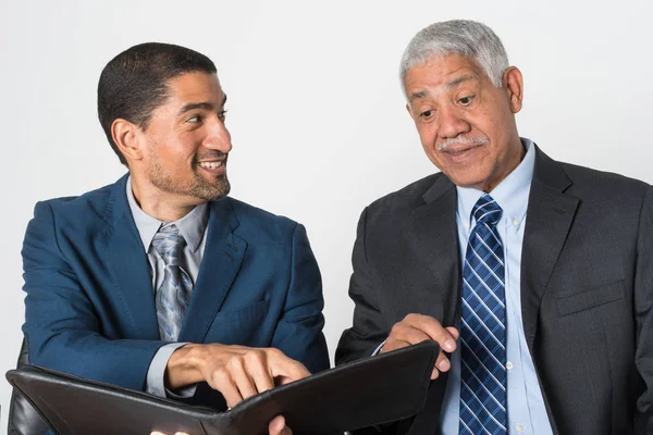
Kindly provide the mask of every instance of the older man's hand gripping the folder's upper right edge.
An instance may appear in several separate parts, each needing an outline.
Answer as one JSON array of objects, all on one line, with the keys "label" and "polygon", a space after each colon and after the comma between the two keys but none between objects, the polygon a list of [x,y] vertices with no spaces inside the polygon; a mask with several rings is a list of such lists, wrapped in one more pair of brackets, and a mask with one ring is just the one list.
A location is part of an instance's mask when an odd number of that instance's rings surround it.
[{"label": "older man's hand gripping the folder's upper right edge", "polygon": [[451,353],[456,350],[456,340],[459,336],[458,330],[453,326],[444,327],[430,315],[408,314],[404,320],[394,324],[380,353],[429,339],[438,341],[443,350],[440,351],[435,366],[433,366],[433,373],[431,373],[431,378],[434,380],[440,375],[440,372],[447,372],[451,369],[452,364],[444,351]]}]

